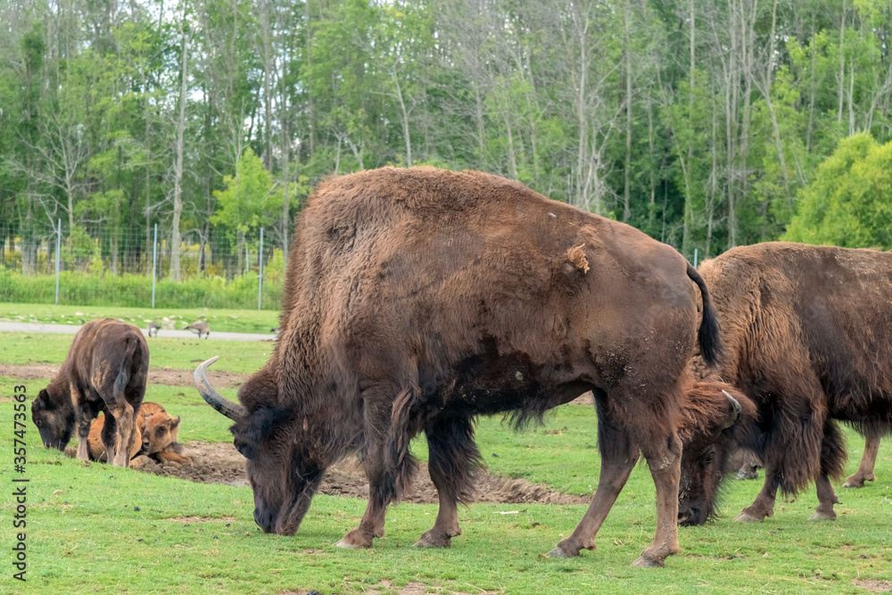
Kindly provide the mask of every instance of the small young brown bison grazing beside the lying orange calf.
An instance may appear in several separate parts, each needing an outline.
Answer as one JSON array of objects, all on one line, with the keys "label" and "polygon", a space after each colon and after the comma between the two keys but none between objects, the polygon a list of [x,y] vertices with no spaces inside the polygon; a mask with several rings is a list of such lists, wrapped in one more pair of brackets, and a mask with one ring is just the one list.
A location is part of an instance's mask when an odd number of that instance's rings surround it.
[{"label": "small young brown bison grazing beside the lying orange calf", "polygon": [[128,467],[136,412],[145,396],[149,348],[136,326],[113,318],[84,325],[54,380],[31,403],[31,418],[46,448],[64,450],[75,427],[78,459],[89,456],[90,422],[102,410],[103,444],[116,467]]}]

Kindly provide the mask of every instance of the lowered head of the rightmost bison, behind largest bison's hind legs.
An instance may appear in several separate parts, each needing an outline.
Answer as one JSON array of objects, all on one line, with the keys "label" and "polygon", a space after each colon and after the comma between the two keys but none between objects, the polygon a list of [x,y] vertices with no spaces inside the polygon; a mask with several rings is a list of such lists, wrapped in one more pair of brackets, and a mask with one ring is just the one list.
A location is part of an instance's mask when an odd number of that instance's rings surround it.
[{"label": "lowered head of the rightmost bison, behind largest bison's hind legs", "polygon": [[698,382],[684,409],[686,417],[695,421],[681,432],[678,522],[703,525],[716,516],[725,460],[743,440],[756,406],[727,384]]}]

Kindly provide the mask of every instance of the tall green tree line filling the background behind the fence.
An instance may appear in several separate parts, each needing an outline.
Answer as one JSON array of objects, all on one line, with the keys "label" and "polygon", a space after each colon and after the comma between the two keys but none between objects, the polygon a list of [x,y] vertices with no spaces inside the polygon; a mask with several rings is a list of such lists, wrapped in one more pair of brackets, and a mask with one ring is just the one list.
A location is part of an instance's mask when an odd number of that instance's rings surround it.
[{"label": "tall green tree line filling the background behind the fence", "polygon": [[318,180],[388,164],[714,255],[780,237],[841,139],[892,127],[892,0],[2,0],[0,24],[0,231],[26,275],[57,219],[112,273],[155,224],[171,278],[185,243],[239,271]]}]

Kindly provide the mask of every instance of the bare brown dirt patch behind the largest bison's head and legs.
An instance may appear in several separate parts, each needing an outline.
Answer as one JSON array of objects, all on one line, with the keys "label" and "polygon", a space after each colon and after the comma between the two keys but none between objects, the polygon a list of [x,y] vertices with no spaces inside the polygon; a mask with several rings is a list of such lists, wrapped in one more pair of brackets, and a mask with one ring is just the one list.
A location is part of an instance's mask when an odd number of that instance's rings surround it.
[{"label": "bare brown dirt patch behind the largest bison's head and legs", "polygon": [[[183,454],[194,461],[192,466],[174,467],[164,464],[146,464],[141,471],[155,475],[178,477],[197,483],[225,483],[248,485],[244,471],[244,457],[229,442],[211,444],[191,442],[184,445]],[[403,498],[405,502],[436,504],[437,490],[427,473],[427,463],[418,466],[415,485]],[[319,493],[351,498],[368,498],[368,482],[356,459],[344,459],[326,471]],[[504,504],[589,504],[591,496],[575,496],[557,492],[524,479],[509,479],[482,473],[476,481],[475,502],[499,502]]]}]

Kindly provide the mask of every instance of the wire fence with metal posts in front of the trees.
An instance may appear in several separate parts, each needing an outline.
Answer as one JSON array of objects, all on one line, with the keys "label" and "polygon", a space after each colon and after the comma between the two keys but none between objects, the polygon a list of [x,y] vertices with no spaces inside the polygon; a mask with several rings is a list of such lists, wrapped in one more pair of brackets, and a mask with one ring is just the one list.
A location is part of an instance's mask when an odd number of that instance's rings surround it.
[{"label": "wire fence with metal posts in front of the trees", "polygon": [[148,237],[71,232],[61,219],[45,236],[16,232],[0,225],[0,302],[277,310],[281,300],[285,252],[275,231],[186,234],[179,276],[169,231],[157,225]]}]

